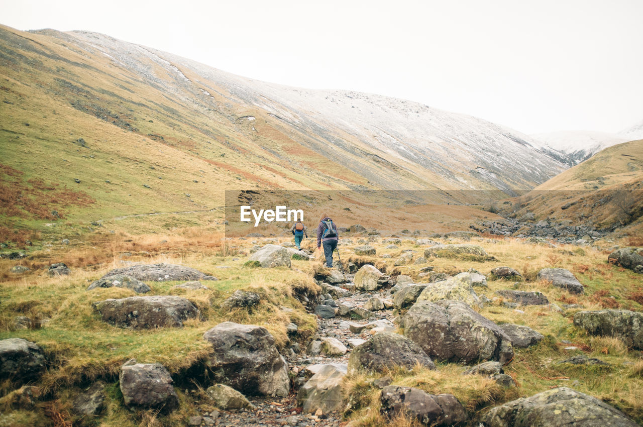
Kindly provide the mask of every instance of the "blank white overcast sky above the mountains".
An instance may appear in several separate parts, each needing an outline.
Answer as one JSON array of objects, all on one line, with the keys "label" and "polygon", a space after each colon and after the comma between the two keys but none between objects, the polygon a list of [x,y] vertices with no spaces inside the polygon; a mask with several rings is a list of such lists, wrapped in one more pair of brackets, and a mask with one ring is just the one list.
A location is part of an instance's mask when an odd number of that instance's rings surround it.
[{"label": "blank white overcast sky above the mountains", "polygon": [[643,0],[0,0],[19,30],[90,30],[289,86],[395,96],[525,133],[643,120]]}]

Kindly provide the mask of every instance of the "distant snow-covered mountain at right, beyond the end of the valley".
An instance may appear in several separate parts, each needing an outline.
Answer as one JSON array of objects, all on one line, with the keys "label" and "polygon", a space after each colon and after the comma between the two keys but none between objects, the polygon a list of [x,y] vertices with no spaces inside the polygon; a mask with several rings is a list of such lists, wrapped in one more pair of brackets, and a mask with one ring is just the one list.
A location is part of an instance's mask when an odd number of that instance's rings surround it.
[{"label": "distant snow-covered mountain at right, beyond the end of the valley", "polygon": [[540,149],[570,167],[607,147],[631,140],[619,134],[594,131],[547,132],[532,137],[540,142]]}]

